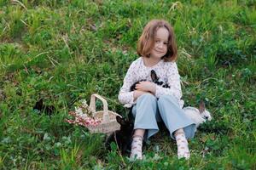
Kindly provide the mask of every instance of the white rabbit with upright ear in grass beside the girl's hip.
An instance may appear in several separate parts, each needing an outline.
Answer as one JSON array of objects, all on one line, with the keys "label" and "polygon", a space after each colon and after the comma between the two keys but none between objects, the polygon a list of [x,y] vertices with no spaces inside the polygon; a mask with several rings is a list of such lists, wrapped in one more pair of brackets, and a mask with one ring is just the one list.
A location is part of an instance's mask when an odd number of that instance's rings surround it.
[{"label": "white rabbit with upright ear in grass beside the girl's hip", "polygon": [[212,120],[211,113],[206,110],[206,105],[203,101],[200,102],[199,109],[195,107],[184,107],[183,111],[186,116],[195,122],[196,128],[199,127],[201,123]]}]

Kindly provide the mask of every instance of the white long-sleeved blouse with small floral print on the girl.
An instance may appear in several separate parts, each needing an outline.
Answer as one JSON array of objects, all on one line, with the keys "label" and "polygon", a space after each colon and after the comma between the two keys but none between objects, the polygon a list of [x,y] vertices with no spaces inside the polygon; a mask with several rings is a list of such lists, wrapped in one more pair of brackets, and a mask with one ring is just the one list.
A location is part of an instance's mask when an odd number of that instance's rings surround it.
[{"label": "white long-sleeved blouse with small floral print on the girl", "polygon": [[125,105],[125,107],[135,105],[136,101],[134,101],[133,98],[134,91],[131,91],[131,86],[142,80],[152,82],[152,70],[156,72],[156,75],[160,80],[166,82],[170,86],[170,88],[163,88],[160,85],[156,85],[155,97],[159,98],[163,94],[172,95],[178,100],[178,103],[182,108],[184,102],[183,99],[181,99],[182,90],[176,62],[165,62],[161,59],[156,65],[147,67],[144,65],[143,57],[140,57],[131,63],[130,68],[125,75],[124,84],[119,91],[119,102]]}]

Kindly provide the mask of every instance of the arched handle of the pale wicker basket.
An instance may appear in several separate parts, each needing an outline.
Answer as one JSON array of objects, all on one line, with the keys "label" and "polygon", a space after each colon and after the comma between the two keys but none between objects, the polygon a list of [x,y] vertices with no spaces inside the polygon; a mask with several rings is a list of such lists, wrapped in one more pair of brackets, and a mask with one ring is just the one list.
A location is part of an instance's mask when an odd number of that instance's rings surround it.
[{"label": "arched handle of the pale wicker basket", "polygon": [[100,99],[103,103],[103,118],[102,122],[110,122],[110,118],[108,115],[108,102],[106,99],[102,98],[99,94],[91,94],[90,96],[90,110],[92,111],[93,116],[95,116],[96,113],[96,98]]}]

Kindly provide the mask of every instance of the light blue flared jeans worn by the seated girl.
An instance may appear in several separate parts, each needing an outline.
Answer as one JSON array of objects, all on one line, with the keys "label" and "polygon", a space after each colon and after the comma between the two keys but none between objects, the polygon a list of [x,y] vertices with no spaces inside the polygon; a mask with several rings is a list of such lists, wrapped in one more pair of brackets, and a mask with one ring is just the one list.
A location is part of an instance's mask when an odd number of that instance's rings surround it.
[{"label": "light blue flared jeans worn by the seated girl", "polygon": [[171,95],[162,95],[157,99],[153,94],[143,94],[137,99],[132,108],[135,117],[134,129],[146,129],[144,139],[149,139],[159,131],[157,122],[165,123],[171,138],[174,132],[183,128],[187,139],[195,135],[195,122],[189,119],[178,105],[178,101]]}]

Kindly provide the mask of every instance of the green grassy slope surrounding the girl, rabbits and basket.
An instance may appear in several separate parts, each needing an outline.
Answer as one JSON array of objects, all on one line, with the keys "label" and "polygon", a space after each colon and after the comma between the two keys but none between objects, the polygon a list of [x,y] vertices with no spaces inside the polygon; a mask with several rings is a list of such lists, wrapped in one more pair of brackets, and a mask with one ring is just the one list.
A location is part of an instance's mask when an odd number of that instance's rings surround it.
[{"label": "green grassy slope surrounding the girl, rabbits and basket", "polygon": [[[205,99],[212,112],[189,161],[166,132],[131,162],[64,122],[93,93],[127,115],[117,96],[151,19],[176,32],[185,105]],[[1,169],[256,169],[255,0],[0,0],[0,42]],[[53,116],[33,110],[40,98]]]}]

